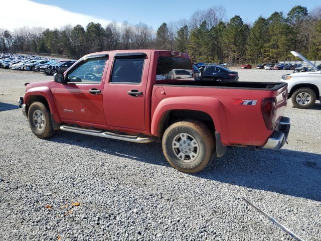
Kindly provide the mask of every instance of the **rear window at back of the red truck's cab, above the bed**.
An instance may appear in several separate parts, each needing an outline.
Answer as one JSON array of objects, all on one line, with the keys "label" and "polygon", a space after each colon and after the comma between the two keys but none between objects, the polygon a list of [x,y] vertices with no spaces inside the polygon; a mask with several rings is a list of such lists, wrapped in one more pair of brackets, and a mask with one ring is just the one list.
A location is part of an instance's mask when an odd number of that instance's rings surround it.
[{"label": "rear window at back of the red truck's cab, above the bed", "polygon": [[189,58],[160,56],[157,60],[156,80],[194,80],[193,67]]}]

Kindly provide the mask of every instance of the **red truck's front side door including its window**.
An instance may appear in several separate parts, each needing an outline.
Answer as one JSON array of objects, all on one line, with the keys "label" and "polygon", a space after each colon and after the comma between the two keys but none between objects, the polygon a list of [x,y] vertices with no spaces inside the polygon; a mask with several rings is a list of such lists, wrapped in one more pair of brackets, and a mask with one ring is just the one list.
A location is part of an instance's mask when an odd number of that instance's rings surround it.
[{"label": "red truck's front side door including its window", "polygon": [[[106,125],[102,81],[105,62],[106,58],[86,58],[66,73],[67,83],[57,83],[55,101],[61,119]],[[91,89],[96,91],[90,93]]]}]

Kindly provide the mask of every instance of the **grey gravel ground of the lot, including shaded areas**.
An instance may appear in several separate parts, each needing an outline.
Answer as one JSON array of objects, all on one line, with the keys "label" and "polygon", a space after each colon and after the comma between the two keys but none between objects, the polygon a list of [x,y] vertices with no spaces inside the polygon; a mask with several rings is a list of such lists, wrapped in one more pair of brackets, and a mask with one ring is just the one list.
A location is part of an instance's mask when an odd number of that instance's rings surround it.
[{"label": "grey gravel ground of the lot, including shaded areas", "polygon": [[[238,71],[249,81],[291,72]],[[321,239],[320,103],[288,102],[283,149],[229,148],[189,175],[170,167],[158,143],[67,132],[38,139],[16,103],[25,82],[48,79],[0,69],[1,239],[294,240],[237,197],[304,240]]]}]

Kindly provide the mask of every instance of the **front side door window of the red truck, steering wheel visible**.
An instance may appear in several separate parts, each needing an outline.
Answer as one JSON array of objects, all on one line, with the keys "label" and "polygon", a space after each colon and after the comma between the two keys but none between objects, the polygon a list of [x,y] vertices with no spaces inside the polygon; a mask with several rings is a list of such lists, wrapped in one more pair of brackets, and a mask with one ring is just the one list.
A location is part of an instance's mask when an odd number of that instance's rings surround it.
[{"label": "front side door window of the red truck, steering wheel visible", "polygon": [[[68,73],[68,82],[101,82],[106,59],[89,59]],[[67,63],[66,63],[67,64]],[[70,63],[71,66],[73,63]]]}]

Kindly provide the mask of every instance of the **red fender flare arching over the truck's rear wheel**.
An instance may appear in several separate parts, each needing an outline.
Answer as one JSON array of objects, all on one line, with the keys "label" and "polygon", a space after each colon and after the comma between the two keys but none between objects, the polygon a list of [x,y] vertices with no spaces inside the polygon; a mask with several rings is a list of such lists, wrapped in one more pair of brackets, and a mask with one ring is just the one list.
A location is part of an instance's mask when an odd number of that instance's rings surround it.
[{"label": "red fender flare arching over the truck's rear wheel", "polygon": [[158,103],[151,119],[151,134],[153,136],[161,136],[159,125],[163,117],[170,110],[197,110],[207,113],[211,116],[216,132],[221,134],[223,143],[228,143],[227,127],[225,120],[225,110],[220,100],[209,96],[180,96],[169,97]]}]

